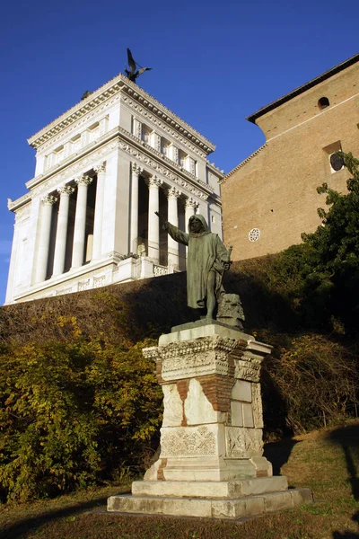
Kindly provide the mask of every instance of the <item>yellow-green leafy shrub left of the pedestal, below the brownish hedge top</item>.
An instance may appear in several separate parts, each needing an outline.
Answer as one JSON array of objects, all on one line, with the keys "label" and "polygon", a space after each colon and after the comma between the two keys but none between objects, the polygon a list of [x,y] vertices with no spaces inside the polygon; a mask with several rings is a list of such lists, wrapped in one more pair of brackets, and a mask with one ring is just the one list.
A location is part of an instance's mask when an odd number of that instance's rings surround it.
[{"label": "yellow-green leafy shrub left of the pedestal, below the brownish hedge top", "polygon": [[[57,319],[56,325],[64,320]],[[85,339],[2,346],[0,485],[31,499],[141,469],[161,422],[162,392],[139,342]]]}]

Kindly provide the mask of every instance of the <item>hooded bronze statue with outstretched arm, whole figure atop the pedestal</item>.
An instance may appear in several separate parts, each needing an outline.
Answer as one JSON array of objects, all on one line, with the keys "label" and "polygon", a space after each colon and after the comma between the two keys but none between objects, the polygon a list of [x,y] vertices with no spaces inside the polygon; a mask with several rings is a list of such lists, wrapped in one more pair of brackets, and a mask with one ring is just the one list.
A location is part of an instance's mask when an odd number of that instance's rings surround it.
[{"label": "hooded bronze statue with outstretched arm, whole figure atop the pedestal", "polygon": [[187,302],[194,309],[206,309],[206,320],[214,319],[215,306],[224,294],[223,273],[229,270],[231,251],[227,250],[217,234],[209,231],[204,216],[190,216],[188,234],[160,218],[162,228],[179,243],[188,245]]}]

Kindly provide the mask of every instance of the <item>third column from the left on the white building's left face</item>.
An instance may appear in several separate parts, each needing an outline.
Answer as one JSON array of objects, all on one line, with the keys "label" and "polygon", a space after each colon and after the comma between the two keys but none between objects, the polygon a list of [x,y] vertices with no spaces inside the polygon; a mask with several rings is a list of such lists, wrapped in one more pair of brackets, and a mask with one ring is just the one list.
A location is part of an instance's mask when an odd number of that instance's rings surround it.
[{"label": "third column from the left on the white building's left face", "polygon": [[73,262],[72,268],[79,268],[83,265],[84,257],[84,239],[86,232],[86,207],[87,207],[87,190],[92,182],[90,176],[82,176],[76,178],[77,183],[77,202],[76,211],[74,214],[74,245],[73,245]]}]

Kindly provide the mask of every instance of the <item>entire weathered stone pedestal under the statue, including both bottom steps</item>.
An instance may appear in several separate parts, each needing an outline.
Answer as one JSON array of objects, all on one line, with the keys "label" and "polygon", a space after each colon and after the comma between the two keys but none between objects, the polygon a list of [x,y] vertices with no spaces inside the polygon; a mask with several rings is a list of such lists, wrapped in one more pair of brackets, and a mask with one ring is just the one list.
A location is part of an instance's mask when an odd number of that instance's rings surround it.
[{"label": "entire weathered stone pedestal under the statue, including both bottom steps", "polygon": [[273,477],[263,456],[259,375],[270,350],[215,321],[172,328],[144,349],[164,394],[161,454],[108,510],[240,518],[311,501],[310,490]]}]

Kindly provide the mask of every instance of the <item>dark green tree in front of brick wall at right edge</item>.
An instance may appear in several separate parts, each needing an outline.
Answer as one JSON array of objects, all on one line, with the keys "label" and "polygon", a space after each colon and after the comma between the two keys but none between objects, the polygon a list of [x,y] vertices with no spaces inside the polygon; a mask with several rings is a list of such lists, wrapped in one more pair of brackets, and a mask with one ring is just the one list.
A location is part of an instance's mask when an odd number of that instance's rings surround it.
[{"label": "dark green tree in front of brick wall at right edge", "polygon": [[328,209],[318,213],[322,224],[313,234],[302,234],[307,255],[307,296],[322,298],[323,314],[344,324],[348,333],[358,331],[359,322],[359,160],[339,152],[352,175],[347,193],[328,188]]}]

